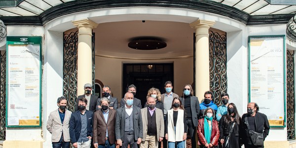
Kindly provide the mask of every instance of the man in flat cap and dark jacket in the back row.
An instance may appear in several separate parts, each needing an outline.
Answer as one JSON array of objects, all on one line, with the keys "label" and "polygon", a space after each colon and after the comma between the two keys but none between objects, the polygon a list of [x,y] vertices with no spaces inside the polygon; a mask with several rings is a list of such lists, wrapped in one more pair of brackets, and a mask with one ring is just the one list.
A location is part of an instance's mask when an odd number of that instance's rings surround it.
[{"label": "man in flat cap and dark jacket in the back row", "polygon": [[87,99],[87,106],[86,110],[95,112],[96,111],[96,105],[97,105],[97,99],[98,96],[91,94],[92,85],[90,83],[84,84],[84,95],[80,95],[76,99],[76,105],[75,105],[75,111],[78,111],[78,101],[80,98],[86,98]]}]

